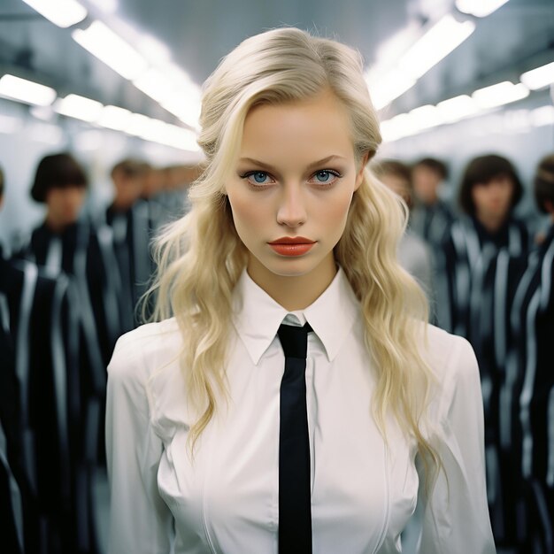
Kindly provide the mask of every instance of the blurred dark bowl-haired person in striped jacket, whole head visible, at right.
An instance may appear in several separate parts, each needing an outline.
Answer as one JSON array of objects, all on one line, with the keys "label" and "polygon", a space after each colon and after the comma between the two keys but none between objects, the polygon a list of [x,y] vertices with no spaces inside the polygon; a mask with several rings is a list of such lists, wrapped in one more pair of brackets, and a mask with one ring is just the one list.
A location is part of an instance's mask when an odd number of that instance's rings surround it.
[{"label": "blurred dark bowl-haired person in striped jacket, whole head visible, at right", "polygon": [[450,227],[439,257],[439,320],[473,345],[481,371],[489,508],[493,531],[504,533],[499,482],[499,394],[508,350],[509,314],[527,263],[529,237],[513,215],[523,186],[512,163],[496,154],[473,158],[459,189],[465,215]]}]

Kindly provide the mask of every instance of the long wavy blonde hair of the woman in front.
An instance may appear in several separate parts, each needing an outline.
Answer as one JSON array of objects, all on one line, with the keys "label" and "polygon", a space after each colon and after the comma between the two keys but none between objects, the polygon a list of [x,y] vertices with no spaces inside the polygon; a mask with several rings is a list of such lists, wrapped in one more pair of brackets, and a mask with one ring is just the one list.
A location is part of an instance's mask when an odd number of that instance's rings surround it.
[{"label": "long wavy blonde hair of the woman in front", "polygon": [[[248,259],[235,231],[224,183],[252,106],[288,103],[331,89],[350,113],[356,159],[381,142],[379,122],[358,52],[296,28],[250,37],[222,60],[204,85],[199,144],[206,167],[190,189],[192,209],[158,237],[155,319],[175,316],[182,335],[181,368],[198,410],[194,444],[227,397],[226,361],[232,297]],[[378,375],[373,417],[386,438],[387,414],[418,442],[435,466],[435,450],[421,432],[433,375],[419,354],[427,321],[425,297],[396,262],[406,213],[395,195],[365,169],[354,193],[335,258],[361,304],[365,344]],[[220,396],[222,393],[222,396]]]}]

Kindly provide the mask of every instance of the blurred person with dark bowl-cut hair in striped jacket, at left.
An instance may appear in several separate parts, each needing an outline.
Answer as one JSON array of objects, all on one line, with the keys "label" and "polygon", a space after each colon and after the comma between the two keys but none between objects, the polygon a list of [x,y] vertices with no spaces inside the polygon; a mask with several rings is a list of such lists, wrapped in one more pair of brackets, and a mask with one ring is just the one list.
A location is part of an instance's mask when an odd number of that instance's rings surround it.
[{"label": "blurred person with dark bowl-cut hair in striped jacket, at left", "polygon": [[81,217],[87,191],[87,175],[73,156],[64,152],[42,158],[31,196],[45,204],[46,215],[18,256],[35,261],[50,275],[64,274],[75,289],[82,344],[81,440],[92,480],[96,467],[105,463],[105,368],[121,327],[112,231]]}]

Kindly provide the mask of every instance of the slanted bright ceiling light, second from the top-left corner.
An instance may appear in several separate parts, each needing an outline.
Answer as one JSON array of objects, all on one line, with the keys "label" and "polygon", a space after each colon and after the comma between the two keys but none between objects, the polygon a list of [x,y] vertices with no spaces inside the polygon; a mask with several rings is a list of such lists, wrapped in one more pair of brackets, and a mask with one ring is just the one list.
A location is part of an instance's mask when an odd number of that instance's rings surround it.
[{"label": "slanted bright ceiling light, second from the top-left corner", "polygon": [[94,21],[86,30],[75,29],[72,36],[125,79],[135,79],[146,69],[146,60],[101,21]]}]

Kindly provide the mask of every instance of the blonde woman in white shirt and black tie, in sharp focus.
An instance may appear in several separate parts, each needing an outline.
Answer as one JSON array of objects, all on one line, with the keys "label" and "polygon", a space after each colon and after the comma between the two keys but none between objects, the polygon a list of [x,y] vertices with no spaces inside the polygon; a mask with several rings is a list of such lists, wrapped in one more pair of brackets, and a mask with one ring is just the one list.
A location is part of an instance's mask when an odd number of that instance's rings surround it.
[{"label": "blonde woman in white shirt and black tie, in sharp focus", "polygon": [[295,28],[205,83],[207,166],[158,240],[158,322],[109,367],[112,553],[495,551],[479,373],[396,262],[358,54]]}]

